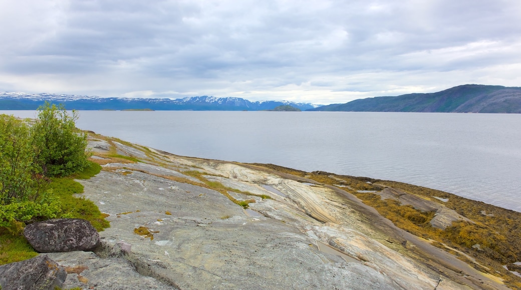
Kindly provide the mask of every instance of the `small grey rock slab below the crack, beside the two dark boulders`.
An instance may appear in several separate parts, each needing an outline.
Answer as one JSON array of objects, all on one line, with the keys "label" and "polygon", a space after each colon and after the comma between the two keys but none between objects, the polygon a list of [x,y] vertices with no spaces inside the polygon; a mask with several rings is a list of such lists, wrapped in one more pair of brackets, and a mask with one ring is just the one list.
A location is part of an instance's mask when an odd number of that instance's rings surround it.
[{"label": "small grey rock slab below the crack, beside the two dark boulders", "polygon": [[63,288],[103,290],[175,289],[150,276],[141,275],[123,258],[100,258],[92,252],[49,253],[69,274]]}]

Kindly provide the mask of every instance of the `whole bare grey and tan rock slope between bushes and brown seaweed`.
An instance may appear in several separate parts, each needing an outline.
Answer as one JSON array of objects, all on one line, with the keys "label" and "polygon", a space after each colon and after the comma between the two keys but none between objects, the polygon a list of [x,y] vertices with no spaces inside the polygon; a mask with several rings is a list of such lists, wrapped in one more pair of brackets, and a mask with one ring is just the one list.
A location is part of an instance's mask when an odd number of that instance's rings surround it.
[{"label": "whole bare grey and tan rock slope between bushes and brown seaweed", "polygon": [[[107,214],[110,228],[94,252],[45,254],[72,269],[63,288],[509,288],[395,227],[342,187],[94,134],[89,146],[103,170],[79,180],[78,196]],[[140,162],[108,157],[110,150]],[[380,194],[420,202],[392,189]],[[442,201],[421,205],[443,208]],[[441,227],[465,219],[441,212]]]}]

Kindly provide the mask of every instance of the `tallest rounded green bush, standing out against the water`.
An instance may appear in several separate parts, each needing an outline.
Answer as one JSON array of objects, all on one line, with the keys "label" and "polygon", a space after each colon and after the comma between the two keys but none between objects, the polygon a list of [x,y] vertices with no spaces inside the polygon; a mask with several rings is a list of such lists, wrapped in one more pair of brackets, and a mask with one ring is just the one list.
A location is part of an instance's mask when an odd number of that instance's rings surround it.
[{"label": "tallest rounded green bush, standing out against the water", "polygon": [[63,104],[48,102],[38,110],[31,133],[43,175],[67,176],[88,167],[87,135],[76,128],[77,111],[69,115]]}]

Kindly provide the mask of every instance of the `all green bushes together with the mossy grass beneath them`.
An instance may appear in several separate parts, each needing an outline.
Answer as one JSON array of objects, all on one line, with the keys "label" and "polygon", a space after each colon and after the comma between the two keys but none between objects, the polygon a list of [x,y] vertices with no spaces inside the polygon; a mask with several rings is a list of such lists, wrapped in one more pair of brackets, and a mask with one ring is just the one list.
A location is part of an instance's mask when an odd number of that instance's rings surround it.
[{"label": "all green bushes together with the mossy grass beneath them", "polygon": [[77,113],[46,103],[35,121],[0,115],[0,265],[36,255],[21,235],[26,224],[49,218],[83,218],[108,227],[94,203],[73,196],[101,166],[88,161]]}]

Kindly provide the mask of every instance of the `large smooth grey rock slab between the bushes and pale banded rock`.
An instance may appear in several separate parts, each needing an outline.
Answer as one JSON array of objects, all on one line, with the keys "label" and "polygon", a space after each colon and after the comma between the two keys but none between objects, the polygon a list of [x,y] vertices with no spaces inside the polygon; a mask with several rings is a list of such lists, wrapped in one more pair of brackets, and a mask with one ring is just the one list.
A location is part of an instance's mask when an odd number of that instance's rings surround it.
[{"label": "large smooth grey rock slab between the bushes and pale banded rock", "polygon": [[[126,241],[132,245],[129,259],[141,273],[181,289],[400,288],[370,267],[321,253],[295,227],[247,217],[213,190],[143,173],[102,172],[80,182],[86,197],[103,201],[102,212],[134,212],[109,216],[103,243]],[[159,190],[169,184],[177,189]],[[139,227],[153,237],[136,234]]]}]

